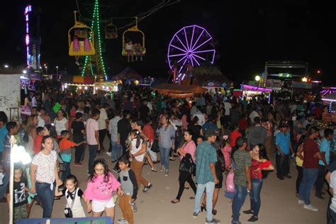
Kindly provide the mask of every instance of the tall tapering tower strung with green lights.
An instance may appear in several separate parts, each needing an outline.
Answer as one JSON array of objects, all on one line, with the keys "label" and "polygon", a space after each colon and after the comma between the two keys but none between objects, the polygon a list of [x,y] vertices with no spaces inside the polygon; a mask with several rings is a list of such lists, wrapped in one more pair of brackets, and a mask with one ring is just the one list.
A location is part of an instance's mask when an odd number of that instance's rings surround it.
[{"label": "tall tapering tower strung with green lights", "polygon": [[[101,55],[101,31],[100,31],[100,23],[99,23],[99,0],[95,0],[94,2],[94,16],[92,18],[91,28],[94,30],[96,34],[96,55],[86,56],[84,67],[82,70],[82,76],[84,76],[86,69],[90,67],[90,71],[92,75],[98,74],[99,77],[106,77],[105,65],[103,63],[103,56]],[[91,34],[90,34],[91,40]],[[92,62],[96,62],[96,74],[94,74],[94,70],[92,69]],[[101,73],[101,74],[100,74]]]}]

